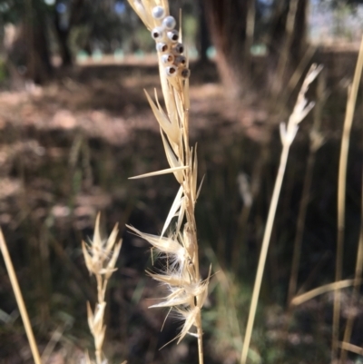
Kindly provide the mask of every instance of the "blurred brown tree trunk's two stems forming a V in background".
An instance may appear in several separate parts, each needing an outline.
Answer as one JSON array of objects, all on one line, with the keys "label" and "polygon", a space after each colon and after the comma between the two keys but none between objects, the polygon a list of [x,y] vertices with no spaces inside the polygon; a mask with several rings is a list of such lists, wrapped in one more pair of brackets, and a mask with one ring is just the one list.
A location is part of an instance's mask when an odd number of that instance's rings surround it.
[{"label": "blurred brown tree trunk's two stems forming a V in background", "polygon": [[[273,79],[273,90],[279,91],[306,49],[309,0],[275,3],[267,64],[268,79]],[[211,40],[217,50],[216,64],[221,82],[226,92],[238,98],[243,89],[250,90],[251,87],[250,46],[256,20],[255,0],[203,0],[203,5]],[[269,82],[262,86],[266,85]]]}]

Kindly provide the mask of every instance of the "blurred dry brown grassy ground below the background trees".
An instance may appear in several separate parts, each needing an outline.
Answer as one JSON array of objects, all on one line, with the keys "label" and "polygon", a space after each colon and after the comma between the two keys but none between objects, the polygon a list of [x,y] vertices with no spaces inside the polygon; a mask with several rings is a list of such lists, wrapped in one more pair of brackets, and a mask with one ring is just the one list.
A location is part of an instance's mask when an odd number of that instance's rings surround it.
[{"label": "blurred dry brown grassy ground below the background trees", "polygon": [[[334,280],[339,148],[357,56],[336,49],[317,56],[326,65],[327,100],[321,114],[324,143],[316,153],[301,245],[302,292]],[[263,59],[256,67],[260,63]],[[288,114],[271,115],[259,87],[246,92],[238,104],[226,99],[213,63],[193,62],[191,74],[191,144],[198,142],[200,179],[205,175],[195,211],[201,276],[208,276],[210,262],[213,273],[219,271],[211,277],[203,309],[204,356],[209,364],[229,364],[240,359],[280,158],[277,123],[286,122]],[[168,168],[159,127],[143,93],[160,90],[156,61],[77,64],[44,86],[17,86],[0,93],[0,225],[47,358],[44,363],[80,362],[85,349],[93,350],[85,301],[93,304],[96,291],[81,241],[92,238],[98,212],[103,236],[119,223],[123,237],[118,270],[106,293],[107,357],[130,364],[196,363],[193,338],[159,350],[178,333],[178,325],[170,318],[160,331],[167,310],[148,309],[163,296],[162,287],[144,274],[152,266],[149,244],[124,228],[128,223],[160,233],[178,190],[170,175],[128,180]],[[312,85],[308,96],[318,103],[316,89]],[[291,97],[283,107],[291,112],[294,102]],[[362,116],[358,93],[348,154],[343,279],[354,276],[361,222]],[[329,362],[332,294],[299,305],[292,317],[286,310],[312,123],[310,114],[300,124],[289,155],[251,340],[255,363]],[[253,197],[247,217],[243,193]],[[361,346],[363,311],[350,296],[351,290],[343,290],[341,327],[355,310],[350,342]],[[31,363],[3,263],[0,301],[0,363]],[[358,355],[349,355],[349,362],[359,362]]]}]

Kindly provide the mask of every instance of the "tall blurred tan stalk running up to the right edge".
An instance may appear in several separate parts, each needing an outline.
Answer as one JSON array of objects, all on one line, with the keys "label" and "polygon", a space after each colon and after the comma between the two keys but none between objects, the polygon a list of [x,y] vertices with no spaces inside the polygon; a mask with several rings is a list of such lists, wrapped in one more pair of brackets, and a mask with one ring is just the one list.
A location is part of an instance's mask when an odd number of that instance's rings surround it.
[{"label": "tall blurred tan stalk running up to the right edge", "polygon": [[[345,198],[347,188],[347,165],[350,131],[353,123],[354,111],[357,103],[357,94],[363,67],[363,37],[360,43],[358,61],[354,73],[353,84],[348,89],[347,111],[344,120],[343,135],[341,139],[339,171],[338,171],[338,237],[336,253],[336,273],[335,280],[341,280],[343,269],[343,247],[345,231]],[[334,361],[338,356],[338,332],[340,318],[340,292],[334,292],[333,308],[333,332],[331,345],[331,360]]]}]

